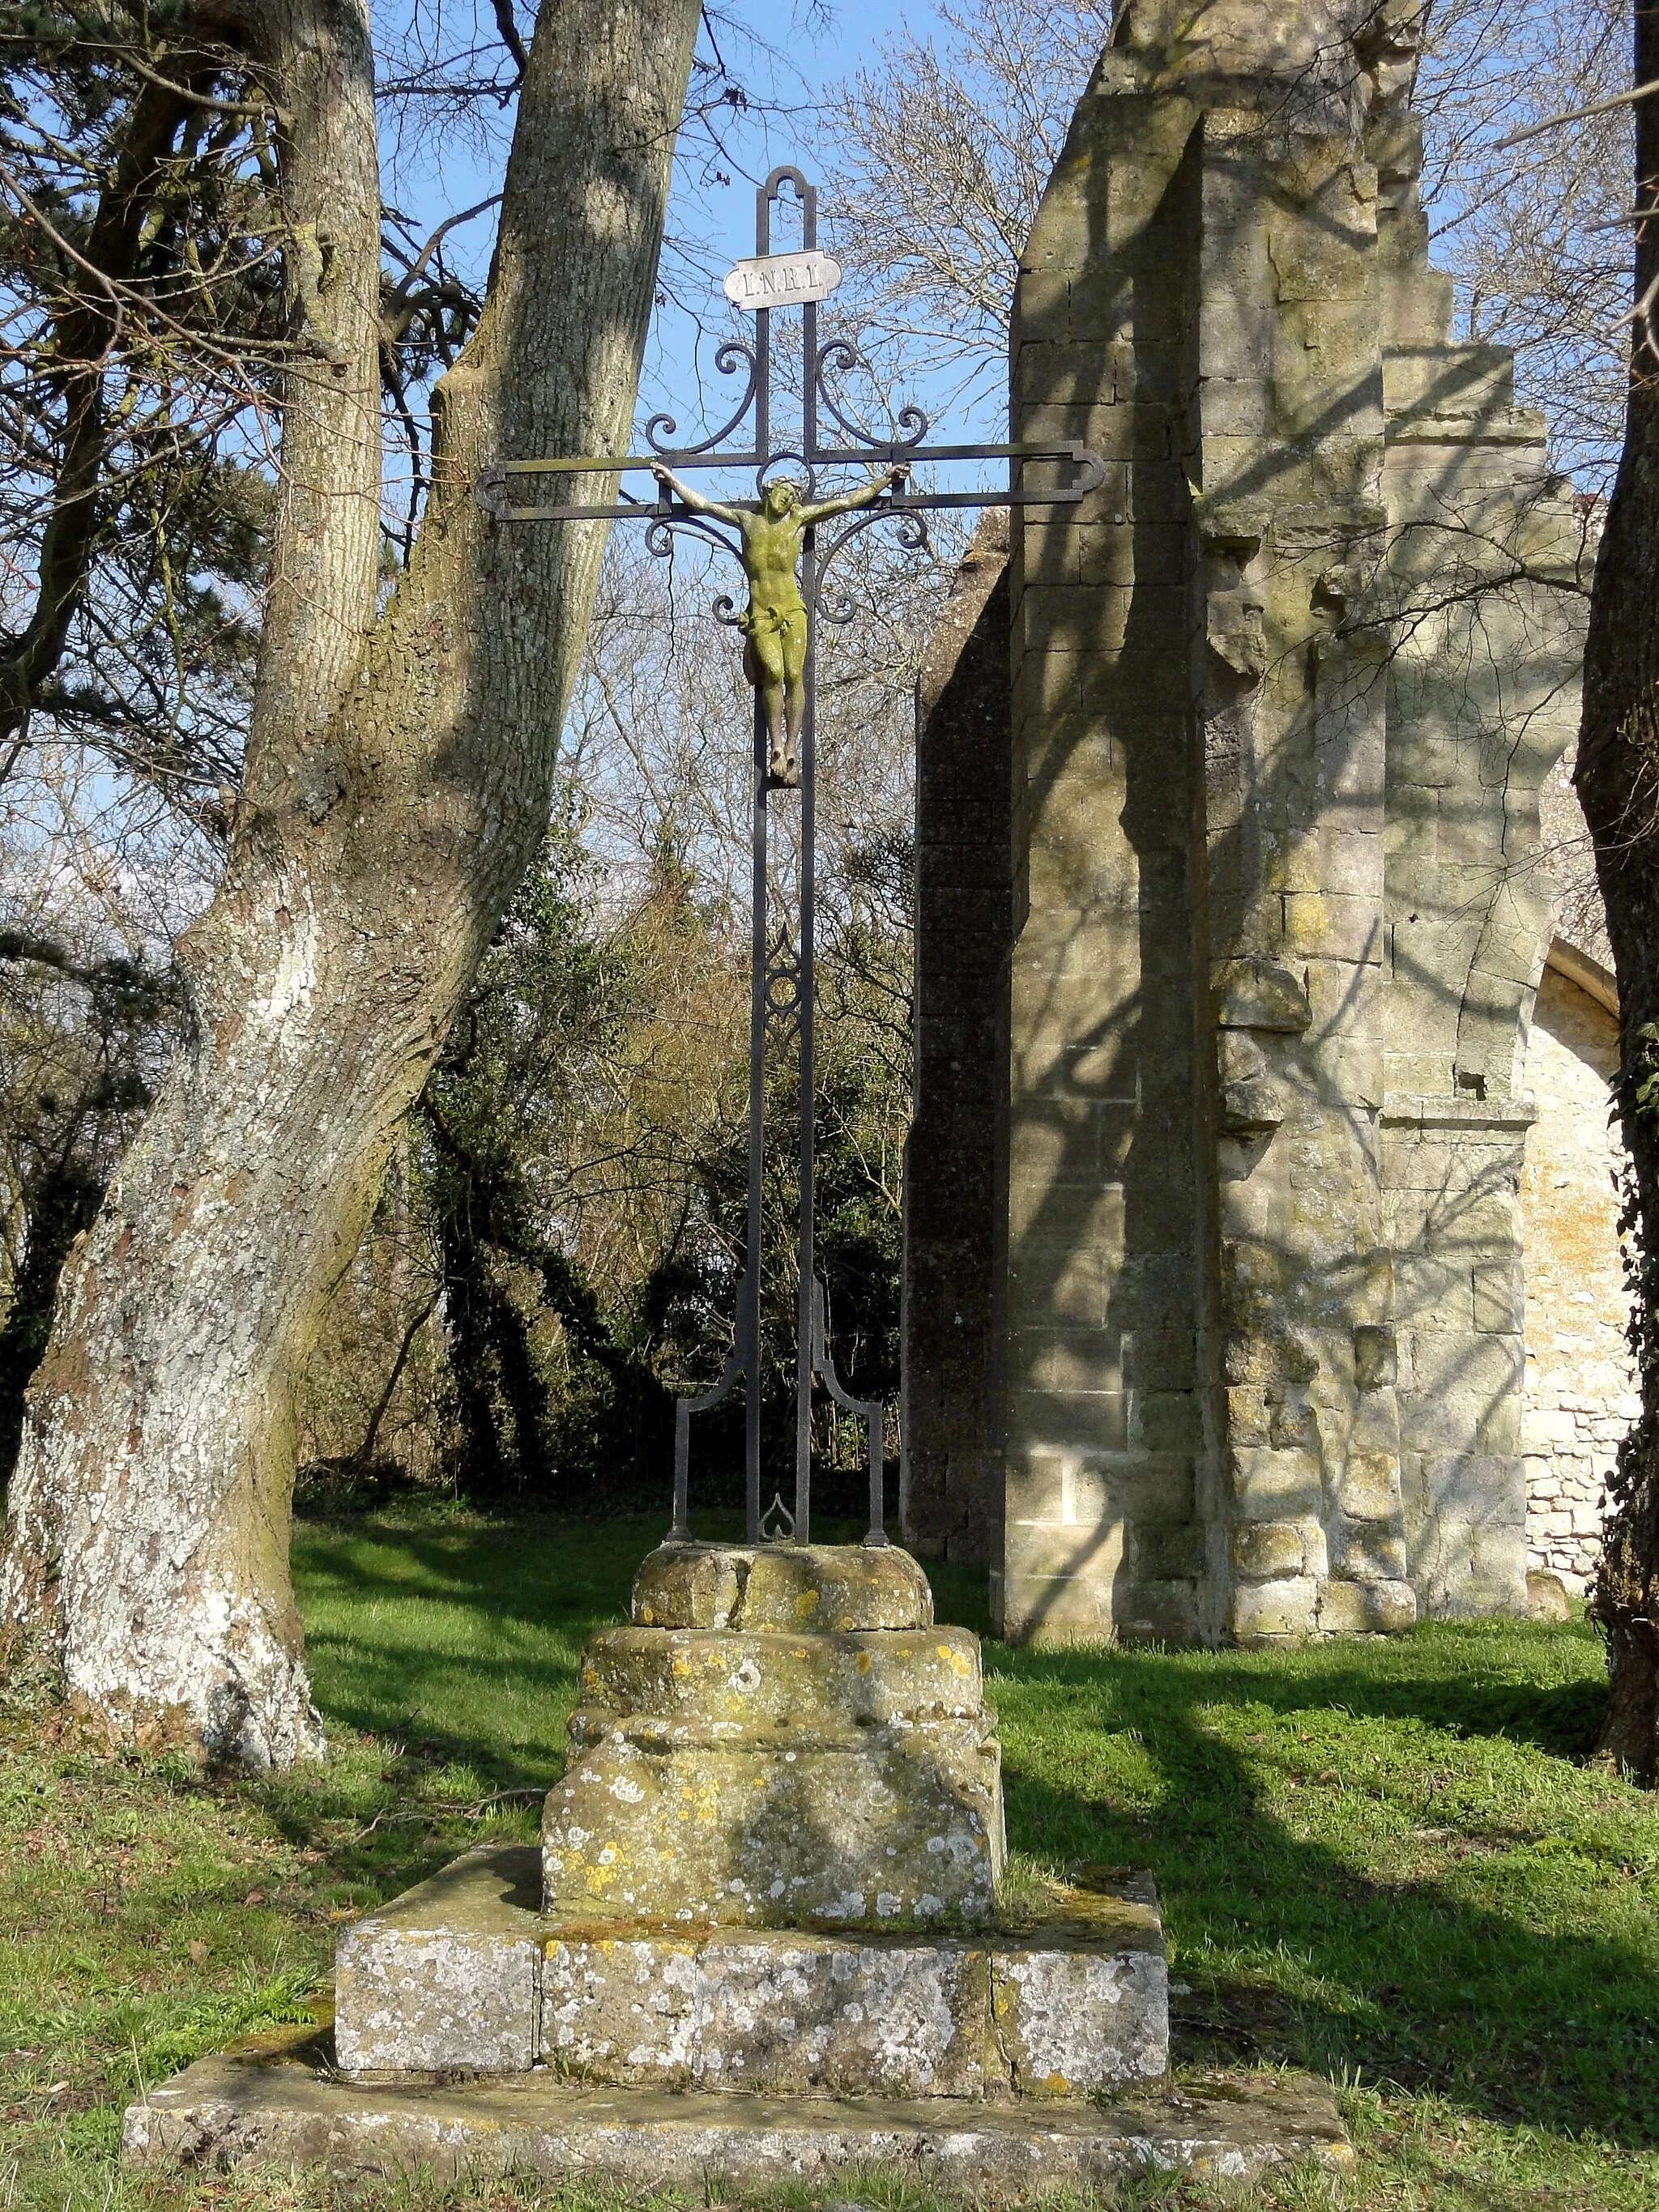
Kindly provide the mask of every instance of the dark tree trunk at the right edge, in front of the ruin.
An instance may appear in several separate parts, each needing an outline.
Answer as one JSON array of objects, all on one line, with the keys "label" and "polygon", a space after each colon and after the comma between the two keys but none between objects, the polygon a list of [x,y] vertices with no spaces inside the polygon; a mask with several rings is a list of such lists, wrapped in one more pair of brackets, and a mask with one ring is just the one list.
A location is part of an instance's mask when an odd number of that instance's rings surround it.
[{"label": "dark tree trunk at the right edge, in front of the ruin", "polygon": [[[1659,73],[1659,13],[1635,13],[1637,84]],[[1659,199],[1659,102],[1639,100],[1637,206]],[[1632,1347],[1641,1418],[1619,1447],[1590,1615],[1608,1639],[1604,1756],[1641,1776],[1659,1752],[1659,223],[1637,230],[1624,456],[1608,504],[1584,648],[1577,790],[1595,843],[1619,978],[1617,1110],[1630,1155]]]}]

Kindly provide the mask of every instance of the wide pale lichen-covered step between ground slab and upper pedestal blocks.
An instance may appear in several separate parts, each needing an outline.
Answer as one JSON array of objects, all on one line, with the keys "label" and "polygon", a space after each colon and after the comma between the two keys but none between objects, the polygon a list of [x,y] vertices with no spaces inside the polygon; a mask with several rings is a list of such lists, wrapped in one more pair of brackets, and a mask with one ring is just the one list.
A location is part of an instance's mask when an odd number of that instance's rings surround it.
[{"label": "wide pale lichen-covered step between ground slab and upper pedestal blocks", "polygon": [[358,1920],[343,2073],[522,2073],[832,2097],[1079,2097],[1168,2064],[1150,1880],[964,1938],[641,1929],[540,1913],[533,1849],[482,1849]]}]

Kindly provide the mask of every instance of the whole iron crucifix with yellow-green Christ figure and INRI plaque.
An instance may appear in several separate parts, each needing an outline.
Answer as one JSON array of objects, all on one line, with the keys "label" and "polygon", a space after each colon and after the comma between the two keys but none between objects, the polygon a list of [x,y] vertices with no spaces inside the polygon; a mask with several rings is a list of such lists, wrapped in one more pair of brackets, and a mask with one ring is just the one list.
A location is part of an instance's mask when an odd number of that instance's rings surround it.
[{"label": "whole iron crucifix with yellow-green Christ figure and INRI plaque", "polygon": [[[772,212],[785,188],[801,217],[801,248],[772,252]],[[668,1542],[690,1542],[690,1416],[719,1405],[743,1383],[745,1413],[745,1540],[807,1544],[812,1533],[812,1387],[823,1383],[834,1405],[865,1420],[869,1442],[869,1531],[865,1544],[885,1544],[883,1420],[878,1400],[854,1398],[841,1383],[830,1352],[825,1287],[814,1267],[814,690],[818,622],[849,622],[852,606],[825,591],[838,553],[876,522],[891,520],[909,551],[927,546],[927,513],[945,507],[1075,507],[1106,480],[1097,453],[1073,440],[1053,445],[927,445],[920,407],[900,407],[891,436],[867,431],[841,396],[838,378],[869,374],[849,338],[818,343],[818,303],[841,283],[841,265],[818,248],[818,192],[799,168],[774,168],[754,195],[754,259],[726,276],[726,296],[754,314],[754,343],[728,338],[714,354],[723,376],[748,372],[732,416],[697,445],[670,445],[679,425],[659,414],[646,422],[648,453],[582,453],[568,460],[504,460],[478,478],[476,498],[495,522],[641,522],[646,546],[668,557],[675,533],[697,533],[734,555],[748,582],[748,606],[714,602],[714,617],[743,637],[743,675],[754,690],[754,814],[750,918],[750,1146],[748,1225],[743,1274],[737,1285],[732,1352],[719,1383],[701,1396],[681,1396],[675,1409],[675,1517]],[[801,440],[772,436],[772,316],[801,310]],[[823,429],[827,418],[830,429]],[[748,429],[745,429],[748,425]],[[734,449],[728,440],[737,438]],[[748,440],[748,442],[743,442]],[[1002,460],[1009,482],[998,491],[922,491],[916,471],[933,465]],[[785,467],[799,473],[774,473]],[[717,500],[697,491],[684,471],[752,471],[752,500]],[[863,469],[865,480],[821,495],[821,473]],[[655,500],[626,498],[622,476],[650,471]],[[874,471],[874,473],[872,473]],[[518,480],[535,476],[611,476],[617,504],[522,507]],[[825,531],[825,524],[838,524]],[[821,531],[825,535],[821,538]],[[772,810],[790,807],[779,823]],[[792,869],[779,865],[783,847]],[[794,1506],[781,1489],[761,1511],[761,1188],[765,1166],[765,1071],[794,1051],[796,1115],[796,1420]]]}]

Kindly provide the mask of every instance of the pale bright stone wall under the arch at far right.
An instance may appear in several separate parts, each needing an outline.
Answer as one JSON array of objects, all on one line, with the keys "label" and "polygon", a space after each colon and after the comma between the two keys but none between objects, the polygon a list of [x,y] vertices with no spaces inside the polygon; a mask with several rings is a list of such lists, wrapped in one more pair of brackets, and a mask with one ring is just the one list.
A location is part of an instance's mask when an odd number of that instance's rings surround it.
[{"label": "pale bright stone wall under the arch at far right", "polygon": [[1619,1438],[1641,1411],[1617,1232],[1621,1146],[1608,1128],[1617,1015],[1555,964],[1537,987],[1520,1212],[1526,1256],[1526,1557],[1584,1593]]}]

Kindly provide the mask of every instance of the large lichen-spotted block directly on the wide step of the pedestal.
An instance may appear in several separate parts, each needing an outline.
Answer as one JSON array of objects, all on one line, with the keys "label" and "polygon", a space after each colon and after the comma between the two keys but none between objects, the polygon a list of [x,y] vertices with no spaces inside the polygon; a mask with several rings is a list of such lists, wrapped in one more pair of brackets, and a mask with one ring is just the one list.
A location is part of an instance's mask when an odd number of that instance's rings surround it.
[{"label": "large lichen-spotted block directly on the wide step of the pedestal", "polygon": [[555,1913],[739,1927],[984,1927],[1002,1871],[993,1717],[841,1741],[730,1725],[653,1747],[633,1721],[546,1796]]}]

